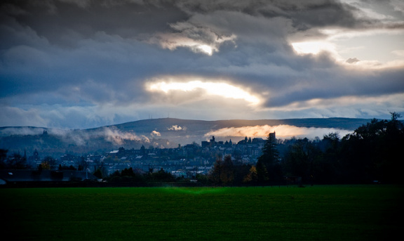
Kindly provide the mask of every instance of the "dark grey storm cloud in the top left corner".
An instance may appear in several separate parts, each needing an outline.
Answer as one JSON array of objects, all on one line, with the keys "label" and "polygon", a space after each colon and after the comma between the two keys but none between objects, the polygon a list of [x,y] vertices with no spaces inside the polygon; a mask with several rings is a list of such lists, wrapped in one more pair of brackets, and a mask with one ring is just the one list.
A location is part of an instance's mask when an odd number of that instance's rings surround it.
[{"label": "dark grey storm cloud in the top left corner", "polygon": [[[78,4],[74,4],[74,2]],[[86,3],[82,4],[80,3]],[[45,37],[51,44],[76,46],[79,39],[95,37],[97,32],[123,38],[139,37],[168,29],[168,22],[186,15],[175,6],[154,6],[136,1],[20,1],[4,4],[15,21]],[[12,7],[11,7],[12,6]],[[17,12],[17,13],[15,13]]]}]

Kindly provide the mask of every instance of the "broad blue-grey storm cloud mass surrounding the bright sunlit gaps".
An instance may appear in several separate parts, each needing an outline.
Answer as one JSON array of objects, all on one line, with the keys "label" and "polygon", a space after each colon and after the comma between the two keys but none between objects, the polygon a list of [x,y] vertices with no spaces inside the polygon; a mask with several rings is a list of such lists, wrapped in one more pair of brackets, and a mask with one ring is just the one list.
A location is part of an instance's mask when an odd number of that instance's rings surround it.
[{"label": "broad blue-grey storm cloud mass surrounding the bright sunlit gaps", "polygon": [[301,56],[290,45],[293,36],[327,37],[321,27],[375,26],[402,30],[403,21],[370,18],[361,2],[326,0],[3,1],[0,108],[10,117],[1,123],[34,112],[36,123],[52,126],[133,120],[136,113],[119,108],[153,105],[144,83],[166,76],[226,79],[267,108],[403,93],[402,68],[346,69],[330,53]]}]

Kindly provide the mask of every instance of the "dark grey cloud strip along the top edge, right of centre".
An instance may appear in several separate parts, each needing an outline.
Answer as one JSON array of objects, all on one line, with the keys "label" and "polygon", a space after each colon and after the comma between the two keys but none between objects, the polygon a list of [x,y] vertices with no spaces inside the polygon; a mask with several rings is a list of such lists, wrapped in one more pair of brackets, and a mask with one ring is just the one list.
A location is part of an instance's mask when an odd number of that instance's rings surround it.
[{"label": "dark grey cloud strip along the top edge, right of centre", "polygon": [[292,21],[297,31],[312,27],[339,26],[365,27],[374,24],[370,18],[358,18],[360,10],[339,1],[178,1],[188,13],[213,13],[235,11],[266,18],[283,17]]}]

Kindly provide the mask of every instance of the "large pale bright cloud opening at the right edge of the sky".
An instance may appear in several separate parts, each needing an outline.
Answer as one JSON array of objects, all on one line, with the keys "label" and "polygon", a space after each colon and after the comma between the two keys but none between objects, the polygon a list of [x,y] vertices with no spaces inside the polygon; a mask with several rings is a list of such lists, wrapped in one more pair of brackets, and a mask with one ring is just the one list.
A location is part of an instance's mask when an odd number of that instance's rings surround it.
[{"label": "large pale bright cloud opening at the right edge of the sky", "polygon": [[[299,38],[295,36],[290,39],[290,45],[299,55],[317,55],[327,51],[340,65],[350,65],[346,60],[356,58],[358,61],[351,67],[363,70],[403,67],[400,50],[404,30],[399,26],[400,24],[387,22],[384,27],[375,26],[371,29],[319,28],[316,31],[323,34],[321,40],[311,40],[310,37],[302,37],[300,33]],[[389,44],[385,44],[386,37],[389,38]],[[302,41],[303,39],[307,40]]]}]

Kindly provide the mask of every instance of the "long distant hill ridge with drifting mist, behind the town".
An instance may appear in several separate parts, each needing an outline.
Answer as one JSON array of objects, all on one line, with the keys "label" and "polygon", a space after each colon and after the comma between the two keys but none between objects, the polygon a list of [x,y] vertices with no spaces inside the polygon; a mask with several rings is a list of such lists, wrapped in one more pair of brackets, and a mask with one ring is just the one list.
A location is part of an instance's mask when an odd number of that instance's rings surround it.
[{"label": "long distant hill ridge with drifting mist, behind the town", "polygon": [[[142,145],[147,148],[150,145],[159,148],[175,148],[178,144],[185,145],[192,142],[201,144],[201,141],[211,138],[210,135],[215,135],[217,141],[231,139],[235,142],[244,138],[243,133],[251,133],[248,134],[248,137],[252,138],[265,138],[269,131],[276,130],[278,136],[285,132],[285,129],[289,130],[288,135],[295,136],[304,136],[304,133],[317,131],[314,133],[318,133],[321,138],[323,132],[354,131],[368,122],[370,119],[354,118],[229,119],[217,121],[161,118],[143,119],[83,130],[7,126],[0,127],[0,148],[10,152],[23,153],[27,151],[27,155],[37,149],[46,155],[58,156],[66,152],[102,153],[116,150],[121,146],[135,149]],[[256,126],[259,131],[251,132],[253,126]],[[273,126],[281,126],[282,128],[271,129]],[[291,129],[290,126],[294,129]],[[299,128],[303,128],[306,132],[296,132],[296,130],[301,130]],[[250,132],[245,132],[245,129]]]}]

